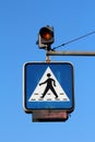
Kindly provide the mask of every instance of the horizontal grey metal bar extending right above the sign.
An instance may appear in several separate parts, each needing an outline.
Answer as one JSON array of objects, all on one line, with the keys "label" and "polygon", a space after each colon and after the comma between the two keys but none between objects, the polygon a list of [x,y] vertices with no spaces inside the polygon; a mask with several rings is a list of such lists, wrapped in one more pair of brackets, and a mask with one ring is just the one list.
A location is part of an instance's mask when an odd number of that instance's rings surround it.
[{"label": "horizontal grey metal bar extending right above the sign", "polygon": [[47,51],[47,56],[95,56],[95,51]]}]

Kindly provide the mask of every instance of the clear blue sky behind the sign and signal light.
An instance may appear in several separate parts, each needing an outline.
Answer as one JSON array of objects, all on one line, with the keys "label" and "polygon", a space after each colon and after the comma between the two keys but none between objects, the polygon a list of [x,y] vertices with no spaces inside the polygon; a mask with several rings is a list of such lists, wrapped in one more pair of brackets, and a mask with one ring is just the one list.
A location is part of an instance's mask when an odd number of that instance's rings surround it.
[{"label": "clear blue sky behind the sign and signal light", "polygon": [[[45,61],[35,44],[47,24],[55,27],[52,47],[95,31],[94,0],[0,1],[0,141],[94,142],[95,57],[51,57],[74,66],[75,109],[66,122],[32,122],[23,110],[23,64]],[[95,50],[95,35],[59,50]]]}]

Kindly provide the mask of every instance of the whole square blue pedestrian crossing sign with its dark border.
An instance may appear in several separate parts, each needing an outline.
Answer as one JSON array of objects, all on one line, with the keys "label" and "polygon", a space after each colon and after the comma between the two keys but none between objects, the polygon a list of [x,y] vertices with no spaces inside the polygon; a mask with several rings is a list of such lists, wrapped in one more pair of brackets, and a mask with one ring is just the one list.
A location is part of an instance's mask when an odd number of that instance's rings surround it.
[{"label": "whole square blue pedestrian crossing sign with its dark border", "polygon": [[70,62],[27,62],[24,66],[24,109],[74,107],[73,66]]}]

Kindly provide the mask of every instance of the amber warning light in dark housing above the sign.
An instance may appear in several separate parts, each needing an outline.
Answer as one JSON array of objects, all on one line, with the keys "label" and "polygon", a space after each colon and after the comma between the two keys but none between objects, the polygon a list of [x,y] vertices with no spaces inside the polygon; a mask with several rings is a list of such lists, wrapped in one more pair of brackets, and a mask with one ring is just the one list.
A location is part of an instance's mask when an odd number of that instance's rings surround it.
[{"label": "amber warning light in dark housing above the sign", "polygon": [[38,33],[38,46],[41,49],[50,50],[50,45],[54,43],[54,27],[41,27]]}]

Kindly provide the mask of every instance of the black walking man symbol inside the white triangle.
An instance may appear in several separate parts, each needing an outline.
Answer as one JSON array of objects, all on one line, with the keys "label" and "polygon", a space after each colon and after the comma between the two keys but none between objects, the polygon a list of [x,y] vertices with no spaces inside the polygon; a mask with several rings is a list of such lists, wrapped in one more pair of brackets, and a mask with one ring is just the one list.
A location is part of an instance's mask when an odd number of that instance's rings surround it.
[{"label": "black walking man symbol inside the white triangle", "polygon": [[50,76],[51,76],[50,73],[47,73],[47,76],[48,76],[48,79],[47,79],[45,82],[39,83],[39,85],[43,85],[43,84],[46,84],[46,83],[47,83],[46,88],[45,88],[45,91],[44,91],[44,93],[43,93],[41,98],[45,97],[45,95],[47,94],[47,92],[48,92],[49,90],[54,93],[54,95],[55,95],[56,98],[57,98],[58,95],[57,95],[57,93],[56,93],[56,91],[55,91],[55,88],[54,88],[54,86],[56,86],[56,81],[50,78]]}]

